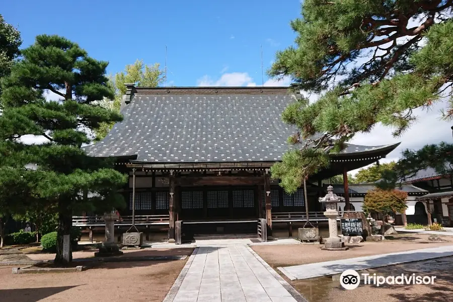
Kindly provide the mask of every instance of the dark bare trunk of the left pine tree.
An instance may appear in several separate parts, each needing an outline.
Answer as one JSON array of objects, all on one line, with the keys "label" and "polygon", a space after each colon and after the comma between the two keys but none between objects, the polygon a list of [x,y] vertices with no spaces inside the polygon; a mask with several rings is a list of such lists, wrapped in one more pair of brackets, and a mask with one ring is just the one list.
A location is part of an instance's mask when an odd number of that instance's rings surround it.
[{"label": "dark bare trunk of the left pine tree", "polygon": [[[54,263],[57,265],[65,265],[68,262],[63,259],[63,235],[70,235],[72,227],[72,211],[67,209],[63,201],[58,202],[58,229],[57,229],[57,245]],[[72,247],[69,244],[69,262],[72,261]]]}]

